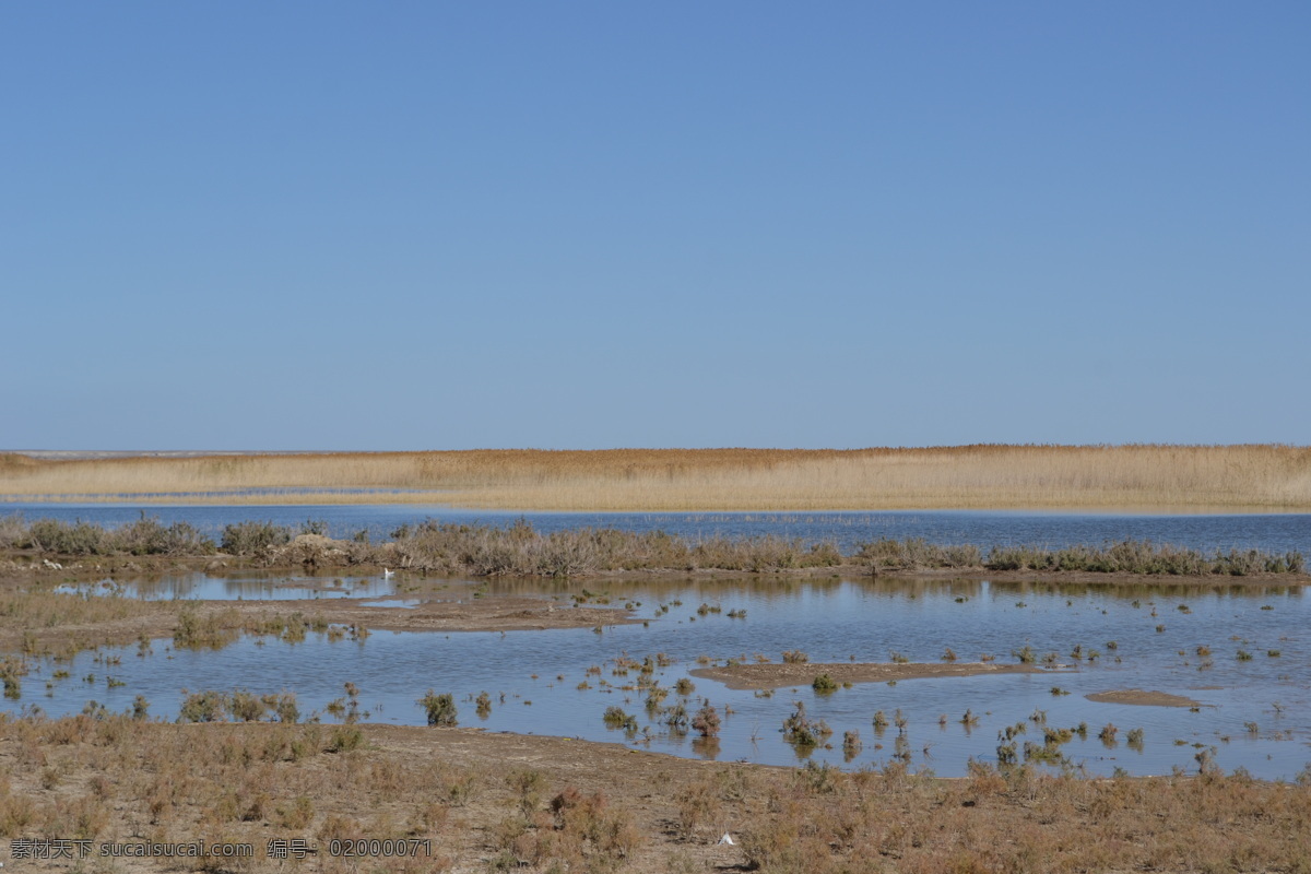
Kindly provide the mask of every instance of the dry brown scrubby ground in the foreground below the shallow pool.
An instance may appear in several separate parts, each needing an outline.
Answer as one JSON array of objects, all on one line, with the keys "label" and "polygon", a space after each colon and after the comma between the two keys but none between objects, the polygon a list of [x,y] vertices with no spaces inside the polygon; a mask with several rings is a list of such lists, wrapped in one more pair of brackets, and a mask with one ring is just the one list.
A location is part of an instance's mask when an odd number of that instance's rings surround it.
[{"label": "dry brown scrubby ground in the foreground below the shallow pool", "polygon": [[[387,726],[73,717],[0,729],[0,836],[256,849],[210,870],[1311,870],[1311,788],[1243,776],[1084,780],[975,767],[944,781]],[[716,845],[724,831],[737,846]],[[270,837],[305,839],[320,856],[270,860]],[[333,837],[429,840],[433,857],[332,858]]]}]

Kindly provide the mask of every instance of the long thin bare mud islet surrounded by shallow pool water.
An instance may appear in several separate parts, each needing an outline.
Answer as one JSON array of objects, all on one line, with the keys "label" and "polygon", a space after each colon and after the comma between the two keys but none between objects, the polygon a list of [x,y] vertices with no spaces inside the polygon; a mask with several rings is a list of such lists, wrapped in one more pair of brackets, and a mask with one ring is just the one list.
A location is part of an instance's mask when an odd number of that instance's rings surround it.
[{"label": "long thin bare mud islet surrounded by shallow pool water", "polygon": [[832,664],[733,664],[696,668],[692,676],[722,683],[730,689],[777,689],[785,685],[810,685],[821,674],[838,683],[888,683],[889,680],[923,680],[943,676],[979,676],[982,674],[1041,674],[1033,664],[994,664],[991,662],[836,662]]}]

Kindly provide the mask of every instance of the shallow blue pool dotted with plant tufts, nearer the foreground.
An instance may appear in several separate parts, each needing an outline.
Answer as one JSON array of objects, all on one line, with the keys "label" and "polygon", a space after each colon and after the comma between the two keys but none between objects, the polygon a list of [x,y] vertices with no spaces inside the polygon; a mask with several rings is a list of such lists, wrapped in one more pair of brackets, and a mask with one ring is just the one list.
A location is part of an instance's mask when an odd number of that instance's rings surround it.
[{"label": "shallow blue pool dotted with plant tufts, nearer the foreground", "polygon": [[[304,514],[304,508],[299,512]],[[375,600],[404,591],[405,600],[396,601],[404,605],[427,596],[413,591],[417,582],[404,575],[395,580],[343,578],[338,587],[321,578],[223,580],[190,574],[151,582],[113,580],[96,591],[121,587],[121,594],[109,596],[202,594],[218,599],[275,598],[279,592],[286,598],[288,592],[307,591],[330,596],[328,592],[336,591]],[[442,584],[446,588],[433,596],[473,595],[472,580]],[[326,709],[343,698],[343,684],[350,681],[361,689],[364,721],[423,725],[425,713],[417,700],[435,689],[455,694],[464,726],[768,764],[796,764],[805,757],[847,768],[886,764],[898,752],[899,732],[897,727],[876,732],[872,718],[882,710],[891,721],[898,709],[906,718],[902,750],[911,765],[932,768],[941,776],[964,774],[970,757],[994,760],[998,732],[1006,726],[1027,723],[1027,732],[1016,738],[1019,746],[1023,748],[1025,740],[1041,746],[1042,726],[1030,718],[1040,710],[1049,727],[1087,723],[1087,736],[1075,735],[1061,751],[1071,764],[1091,773],[1112,773],[1116,768],[1134,774],[1196,770],[1196,756],[1205,753],[1227,770],[1242,767],[1259,777],[1289,780],[1311,760],[1311,604],[1299,587],[1200,591],[985,579],[773,578],[704,583],[590,579],[577,584],[493,580],[481,586],[486,596],[553,598],[561,609],[586,586],[593,594],[608,596],[612,605],[635,604],[635,613],[646,625],[604,626],[599,633],[374,632],[361,642],[311,633],[299,643],[248,637],[219,651],[174,650],[170,641],[156,641],[146,655],[138,655],[134,645],[83,653],[64,663],[37,662],[22,680],[22,697],[5,701],[5,708],[17,712],[39,705],[56,715],[80,712],[88,700],[96,700],[122,712],[143,694],[152,715],[173,718],[184,688],[244,688],[256,693],[295,692],[304,715],[319,712],[325,721],[333,721]],[[699,613],[701,604],[720,612]],[[739,609],[746,611],[745,618],[728,616]],[[1076,645],[1082,659],[1071,656]],[[730,708],[733,713],[724,717],[714,750],[697,743],[695,732],[671,732],[648,713],[642,693],[632,688],[636,670],[627,676],[614,674],[616,659],[625,654],[641,660],[663,653],[671,663],[658,668],[656,676],[662,687],[671,688],[699,666],[699,659],[754,660],[759,653],[779,662],[784,650],[802,650],[815,663],[888,662],[894,653],[911,662],[937,662],[950,647],[962,662],[988,655],[998,663],[1013,663],[1012,653],[1024,646],[1040,656],[1055,653],[1072,670],[857,684],[829,696],[806,685],[759,697],[692,679],[696,688],[690,697],[680,698],[671,691],[663,704],[686,701],[688,712],[695,712],[701,698],[709,698],[721,715]],[[1210,656],[1200,656],[1200,646],[1210,647]],[[1092,650],[1100,653],[1096,660],[1088,658]],[[1240,659],[1240,650],[1252,658]],[[593,667],[599,667],[599,674],[589,672]],[[68,676],[55,679],[56,671],[67,671]],[[1053,694],[1053,687],[1068,694]],[[1188,696],[1202,706],[1190,712],[1097,704],[1084,697],[1127,688]],[[480,718],[473,697],[481,692],[493,704],[490,713]],[[783,740],[783,719],[797,701],[834,730],[832,748],[814,748],[806,755]],[[607,729],[602,717],[608,706],[633,714],[638,730]],[[961,725],[966,710],[978,717],[977,726]],[[940,725],[943,715],[945,723]],[[1106,723],[1120,730],[1109,746],[1097,739]],[[1133,729],[1143,731],[1141,747],[1126,743]],[[859,731],[863,742],[861,751],[850,757],[842,750],[848,730]]]}]

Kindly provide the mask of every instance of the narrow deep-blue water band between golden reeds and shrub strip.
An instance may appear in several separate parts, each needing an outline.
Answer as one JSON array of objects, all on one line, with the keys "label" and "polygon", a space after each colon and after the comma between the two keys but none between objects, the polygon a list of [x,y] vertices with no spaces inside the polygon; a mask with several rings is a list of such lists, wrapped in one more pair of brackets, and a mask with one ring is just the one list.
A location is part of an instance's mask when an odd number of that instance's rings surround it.
[{"label": "narrow deep-blue water band between golden reeds and shrub strip", "polygon": [[507,525],[524,518],[543,532],[582,527],[625,531],[666,531],[684,537],[717,535],[743,537],[776,535],[806,541],[832,540],[844,552],[880,537],[923,537],[936,544],[1040,546],[1101,545],[1116,540],[1151,540],[1193,549],[1298,550],[1311,554],[1311,514],[1264,515],[1114,515],[995,511],[889,512],[497,512],[408,504],[325,506],[151,506],[0,503],[0,515],[21,512],[26,519],[81,519],[108,525],[139,519],[142,512],[163,523],[189,522],[218,539],[233,522],[261,520],[300,525],[323,520],[334,537],[367,531],[385,540],[404,524],[425,519],[443,523]]}]

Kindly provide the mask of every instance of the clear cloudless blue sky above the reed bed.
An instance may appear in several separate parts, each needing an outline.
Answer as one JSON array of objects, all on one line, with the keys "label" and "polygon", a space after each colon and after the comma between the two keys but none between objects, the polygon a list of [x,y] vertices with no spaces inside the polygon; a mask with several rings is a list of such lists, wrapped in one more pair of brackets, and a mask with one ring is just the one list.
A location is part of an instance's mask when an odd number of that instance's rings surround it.
[{"label": "clear cloudless blue sky above the reed bed", "polygon": [[1311,4],[0,5],[4,448],[1311,442]]}]

